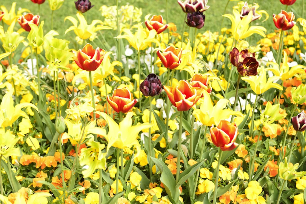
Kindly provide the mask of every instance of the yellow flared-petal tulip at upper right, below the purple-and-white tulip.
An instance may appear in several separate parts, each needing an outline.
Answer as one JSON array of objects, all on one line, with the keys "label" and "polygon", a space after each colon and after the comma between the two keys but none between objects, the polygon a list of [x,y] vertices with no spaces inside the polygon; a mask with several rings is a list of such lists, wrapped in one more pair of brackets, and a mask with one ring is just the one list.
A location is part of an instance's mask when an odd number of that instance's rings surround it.
[{"label": "yellow flared-petal tulip at upper right, below the purple-and-white tulip", "polygon": [[224,14],[223,17],[229,18],[232,21],[232,35],[235,40],[239,41],[248,36],[257,33],[264,38],[266,37],[264,32],[267,32],[267,29],[262,26],[251,26],[249,27],[250,22],[252,21],[253,13],[248,13],[244,18],[240,18],[240,13],[237,10],[233,10],[233,14]]}]

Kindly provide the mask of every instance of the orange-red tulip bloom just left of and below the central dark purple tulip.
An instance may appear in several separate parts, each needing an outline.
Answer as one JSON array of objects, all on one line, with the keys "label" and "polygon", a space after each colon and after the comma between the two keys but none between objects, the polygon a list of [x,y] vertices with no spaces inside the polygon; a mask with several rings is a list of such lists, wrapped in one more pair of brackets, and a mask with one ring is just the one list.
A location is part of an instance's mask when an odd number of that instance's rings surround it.
[{"label": "orange-red tulip bloom just left of and below the central dark purple tulip", "polygon": [[131,92],[126,87],[115,89],[112,97],[107,96],[106,100],[117,113],[128,112],[138,101],[136,98],[132,100]]}]

